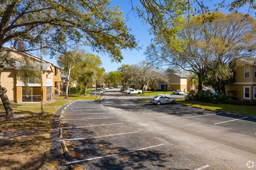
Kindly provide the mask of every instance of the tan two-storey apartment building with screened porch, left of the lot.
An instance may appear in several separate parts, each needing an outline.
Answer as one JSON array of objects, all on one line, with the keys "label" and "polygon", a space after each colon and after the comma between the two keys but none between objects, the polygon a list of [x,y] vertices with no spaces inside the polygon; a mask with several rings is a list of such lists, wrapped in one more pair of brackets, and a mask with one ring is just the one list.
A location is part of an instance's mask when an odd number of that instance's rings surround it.
[{"label": "tan two-storey apartment building with screened porch, left of the lot", "polygon": [[[8,47],[7,47],[8,48]],[[26,56],[36,67],[40,68],[40,58],[27,52],[11,52],[11,57],[22,58]],[[17,68],[19,69],[17,63]],[[39,102],[41,101],[41,78],[23,77],[18,79],[15,76],[15,68],[6,67],[1,74],[1,86],[6,88],[7,97],[11,102]],[[25,88],[25,83],[27,87]],[[52,99],[56,92],[59,94],[61,83],[61,68],[43,59],[43,98],[44,102]]]}]

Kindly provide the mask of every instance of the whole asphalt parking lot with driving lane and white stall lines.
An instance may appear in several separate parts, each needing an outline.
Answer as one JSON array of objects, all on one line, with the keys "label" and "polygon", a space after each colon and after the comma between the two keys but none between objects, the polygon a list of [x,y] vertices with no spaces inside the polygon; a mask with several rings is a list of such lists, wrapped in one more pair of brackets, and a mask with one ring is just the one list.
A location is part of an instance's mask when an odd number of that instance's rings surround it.
[{"label": "whole asphalt parking lot with driving lane and white stall lines", "polygon": [[[244,168],[243,162],[255,158],[256,121],[251,117],[136,103],[122,96],[107,92],[102,101],[75,101],[62,108],[61,126],[52,134],[58,150],[53,153],[62,156],[59,146],[65,141],[70,155],[57,169],[224,170]],[[56,137],[59,129],[62,138]],[[238,153],[245,154],[242,160],[234,156]]]}]

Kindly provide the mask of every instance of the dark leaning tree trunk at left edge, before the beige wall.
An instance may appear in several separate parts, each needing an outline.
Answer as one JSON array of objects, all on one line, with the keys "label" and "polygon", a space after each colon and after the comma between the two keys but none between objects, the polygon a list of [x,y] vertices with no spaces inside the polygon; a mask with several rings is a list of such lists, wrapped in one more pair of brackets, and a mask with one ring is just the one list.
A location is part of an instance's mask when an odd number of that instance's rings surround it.
[{"label": "dark leaning tree trunk at left edge, before the beige wall", "polygon": [[6,117],[13,117],[14,112],[13,112],[13,108],[11,107],[11,103],[6,95],[6,88],[2,88],[0,86],[0,98],[3,102],[4,105],[4,109],[6,110]]}]

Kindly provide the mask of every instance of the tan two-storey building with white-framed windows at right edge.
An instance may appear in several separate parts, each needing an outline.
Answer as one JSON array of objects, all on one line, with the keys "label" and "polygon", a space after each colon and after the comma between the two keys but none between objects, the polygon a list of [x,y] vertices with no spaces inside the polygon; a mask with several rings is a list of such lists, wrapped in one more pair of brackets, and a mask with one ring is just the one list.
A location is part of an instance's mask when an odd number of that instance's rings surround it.
[{"label": "tan two-storey building with white-framed windows at right edge", "polygon": [[235,82],[225,86],[227,95],[238,100],[256,100],[255,65],[255,60],[243,60],[236,66]]}]

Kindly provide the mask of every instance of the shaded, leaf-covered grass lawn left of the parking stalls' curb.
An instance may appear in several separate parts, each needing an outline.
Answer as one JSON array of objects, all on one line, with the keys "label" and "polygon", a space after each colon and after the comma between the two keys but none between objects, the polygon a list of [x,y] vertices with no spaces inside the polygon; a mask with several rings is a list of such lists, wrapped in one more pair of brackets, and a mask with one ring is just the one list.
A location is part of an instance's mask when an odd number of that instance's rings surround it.
[{"label": "shaded, leaf-covered grass lawn left of the parking stalls' curb", "polygon": [[52,101],[45,103],[44,115],[39,115],[39,102],[12,104],[15,113],[12,119],[5,118],[4,107],[0,105],[0,130],[4,133],[4,137],[0,137],[0,170],[50,170],[61,162],[53,160],[50,155],[50,123],[54,113],[72,100],[94,100],[95,96],[70,95],[69,100],[63,98],[53,97]]}]

